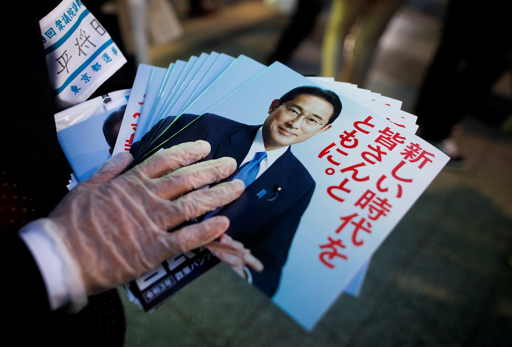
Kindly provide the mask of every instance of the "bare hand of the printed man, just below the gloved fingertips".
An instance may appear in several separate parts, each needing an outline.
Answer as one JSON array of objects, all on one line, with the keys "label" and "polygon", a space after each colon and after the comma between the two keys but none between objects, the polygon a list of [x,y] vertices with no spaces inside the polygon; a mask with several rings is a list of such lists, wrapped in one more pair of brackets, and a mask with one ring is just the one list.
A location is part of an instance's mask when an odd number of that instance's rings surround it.
[{"label": "bare hand of the printed man, just below the gloved fingertips", "polygon": [[244,267],[254,271],[263,271],[263,263],[251,254],[240,241],[233,240],[229,235],[222,234],[218,241],[206,245],[219,259],[224,261],[238,275],[247,279]]}]

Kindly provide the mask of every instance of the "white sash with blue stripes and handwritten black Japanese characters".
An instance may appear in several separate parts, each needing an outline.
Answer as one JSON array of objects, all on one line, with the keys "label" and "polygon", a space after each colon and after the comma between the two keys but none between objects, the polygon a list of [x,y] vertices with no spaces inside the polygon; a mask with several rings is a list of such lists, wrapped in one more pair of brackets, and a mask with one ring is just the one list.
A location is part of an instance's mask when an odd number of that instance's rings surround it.
[{"label": "white sash with blue stripes and handwritten black Japanese characters", "polygon": [[64,0],[39,21],[56,105],[87,100],[126,63],[109,33],[78,0]]}]

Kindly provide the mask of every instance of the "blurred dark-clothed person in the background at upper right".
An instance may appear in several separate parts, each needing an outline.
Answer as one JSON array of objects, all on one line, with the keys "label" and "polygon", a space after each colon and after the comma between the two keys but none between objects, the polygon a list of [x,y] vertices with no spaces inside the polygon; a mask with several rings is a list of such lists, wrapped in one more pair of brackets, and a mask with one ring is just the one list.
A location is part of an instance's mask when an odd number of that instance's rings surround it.
[{"label": "blurred dark-clothed person in the background at upper right", "polygon": [[496,123],[512,112],[510,99],[502,111],[489,104],[493,86],[512,67],[512,35],[507,34],[510,12],[504,5],[499,0],[447,3],[440,43],[414,113],[418,134],[449,155],[452,163],[463,160],[450,136],[465,115]]}]

